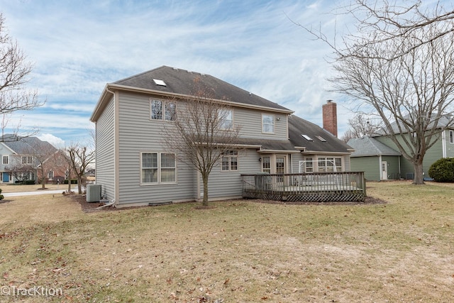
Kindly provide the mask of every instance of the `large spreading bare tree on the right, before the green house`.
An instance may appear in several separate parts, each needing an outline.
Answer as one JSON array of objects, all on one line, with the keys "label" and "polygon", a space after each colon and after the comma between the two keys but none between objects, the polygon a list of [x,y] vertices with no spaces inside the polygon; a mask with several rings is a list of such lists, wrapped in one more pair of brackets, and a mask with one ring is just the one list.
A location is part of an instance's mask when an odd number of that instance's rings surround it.
[{"label": "large spreading bare tree on the right, before the green house", "polygon": [[454,13],[422,7],[356,0],[346,12],[358,33],[341,45],[306,28],[333,49],[334,90],[380,117],[382,133],[414,165],[414,184],[424,183],[426,151],[454,123]]}]

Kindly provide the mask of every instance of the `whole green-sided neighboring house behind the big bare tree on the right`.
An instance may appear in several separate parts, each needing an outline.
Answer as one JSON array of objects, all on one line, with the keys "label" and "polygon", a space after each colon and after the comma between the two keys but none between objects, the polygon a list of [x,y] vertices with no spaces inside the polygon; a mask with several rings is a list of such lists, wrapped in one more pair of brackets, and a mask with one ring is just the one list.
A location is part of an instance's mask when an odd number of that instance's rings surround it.
[{"label": "whole green-sided neighboring house behind the big bare tree on the right", "polygon": [[[447,120],[441,119],[439,125],[445,126],[445,123]],[[395,128],[395,123],[392,123],[392,127]],[[409,134],[399,134],[397,139],[402,141],[402,136],[409,136]],[[423,174],[426,180],[430,177],[428,170],[433,162],[440,158],[454,157],[453,129],[447,129],[440,136],[433,136],[433,139],[436,140],[436,143],[427,150],[423,160]],[[372,138],[351,139],[347,144],[355,149],[351,158],[351,169],[364,171],[367,180],[414,179],[414,165],[402,156],[397,145],[389,136],[385,135],[383,130],[378,131]],[[371,144],[381,152],[375,155],[377,156],[375,159],[371,158],[373,154]],[[383,164],[384,162],[386,162],[386,166]]]}]

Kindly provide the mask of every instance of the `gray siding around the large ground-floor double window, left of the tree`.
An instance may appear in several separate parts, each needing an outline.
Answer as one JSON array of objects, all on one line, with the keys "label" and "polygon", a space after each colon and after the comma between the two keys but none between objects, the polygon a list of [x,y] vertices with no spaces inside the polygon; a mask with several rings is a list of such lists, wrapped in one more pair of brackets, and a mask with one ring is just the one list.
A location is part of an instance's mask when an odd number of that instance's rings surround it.
[{"label": "gray siding around the large ground-floor double window, left of the tree", "polygon": [[177,161],[175,184],[140,184],[140,153],[168,153],[162,129],[168,121],[150,119],[150,96],[121,92],[118,104],[119,204],[194,199],[194,170]]}]

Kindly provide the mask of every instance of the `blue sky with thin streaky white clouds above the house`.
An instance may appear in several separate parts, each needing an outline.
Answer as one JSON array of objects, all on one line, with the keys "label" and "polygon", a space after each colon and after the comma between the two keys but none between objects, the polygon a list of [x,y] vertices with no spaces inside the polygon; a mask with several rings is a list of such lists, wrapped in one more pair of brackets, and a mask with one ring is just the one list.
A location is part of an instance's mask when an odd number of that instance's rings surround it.
[{"label": "blue sky with thin streaky white clouds above the house", "polygon": [[0,0],[9,35],[34,63],[28,86],[47,99],[11,119],[57,146],[83,142],[106,83],[167,65],[218,77],[320,126],[321,106],[333,99],[341,136],[353,114],[327,91],[331,51],[289,20],[333,33],[343,26],[333,8],[331,0]]}]

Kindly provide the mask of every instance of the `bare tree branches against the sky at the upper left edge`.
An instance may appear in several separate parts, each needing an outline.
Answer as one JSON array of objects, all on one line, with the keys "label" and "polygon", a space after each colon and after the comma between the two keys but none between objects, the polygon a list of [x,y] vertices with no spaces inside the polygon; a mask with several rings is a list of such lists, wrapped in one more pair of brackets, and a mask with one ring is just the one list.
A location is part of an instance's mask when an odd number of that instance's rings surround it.
[{"label": "bare tree branches against the sky at the upper left edge", "polygon": [[[26,55],[18,47],[16,41],[6,33],[4,17],[0,13],[0,114],[31,110],[45,103],[38,99],[36,91],[26,89],[31,72],[31,63],[27,61]],[[4,135],[6,124],[4,116],[1,123],[2,135]],[[18,131],[17,128],[16,131]],[[31,136],[35,133],[32,131],[32,133],[21,134],[21,136],[15,133],[16,136],[13,137]]]}]

